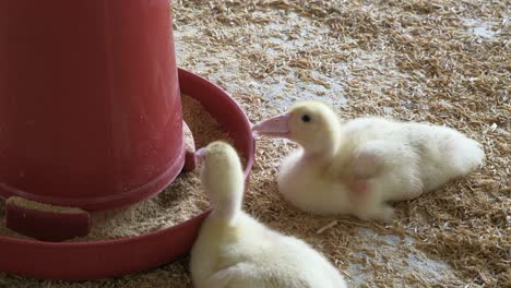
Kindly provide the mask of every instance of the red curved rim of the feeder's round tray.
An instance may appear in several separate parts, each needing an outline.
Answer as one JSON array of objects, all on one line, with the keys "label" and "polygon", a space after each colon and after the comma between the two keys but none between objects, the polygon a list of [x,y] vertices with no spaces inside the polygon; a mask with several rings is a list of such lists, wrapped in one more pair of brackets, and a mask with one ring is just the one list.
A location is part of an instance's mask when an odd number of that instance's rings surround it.
[{"label": "red curved rim of the feeder's round tray", "polygon": [[[181,92],[199,100],[234,137],[247,158],[248,178],[254,153],[250,122],[218,86],[179,70]],[[135,273],[187,254],[209,211],[156,232],[98,242],[41,242],[0,237],[0,271],[43,279],[96,279]]]}]

